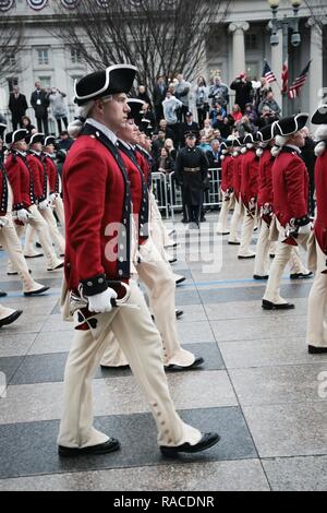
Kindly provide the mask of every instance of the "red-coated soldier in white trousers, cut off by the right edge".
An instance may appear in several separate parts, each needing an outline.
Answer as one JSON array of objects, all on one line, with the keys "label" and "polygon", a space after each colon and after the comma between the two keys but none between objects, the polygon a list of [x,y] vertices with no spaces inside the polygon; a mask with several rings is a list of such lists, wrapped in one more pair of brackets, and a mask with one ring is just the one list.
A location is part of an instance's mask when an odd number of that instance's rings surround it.
[{"label": "red-coated soldier in white trousers, cut off by the right edge", "polygon": [[310,354],[327,353],[325,315],[327,307],[327,105],[322,105],[312,118],[318,124],[315,139],[317,156],[315,166],[316,220],[315,238],[317,267],[308,296],[306,342]]}]

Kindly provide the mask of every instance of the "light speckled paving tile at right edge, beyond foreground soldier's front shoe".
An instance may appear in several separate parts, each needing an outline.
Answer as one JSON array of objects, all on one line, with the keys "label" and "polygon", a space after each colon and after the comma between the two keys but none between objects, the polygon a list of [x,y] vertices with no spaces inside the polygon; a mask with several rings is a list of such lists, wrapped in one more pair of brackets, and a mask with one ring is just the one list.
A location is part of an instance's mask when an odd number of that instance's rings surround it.
[{"label": "light speckled paving tile at right edge, beyond foreground soldier's front shoe", "polygon": [[259,457],[327,455],[326,403],[242,408]]}]

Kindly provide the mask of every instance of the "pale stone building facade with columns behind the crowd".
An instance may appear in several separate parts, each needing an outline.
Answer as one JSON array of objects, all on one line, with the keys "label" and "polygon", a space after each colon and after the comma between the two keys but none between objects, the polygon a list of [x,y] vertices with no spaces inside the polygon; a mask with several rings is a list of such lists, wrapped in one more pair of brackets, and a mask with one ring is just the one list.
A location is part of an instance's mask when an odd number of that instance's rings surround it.
[{"label": "pale stone building facade with columns behind the crowd", "polygon": [[[104,0],[95,0],[97,2]],[[72,12],[76,0],[0,0],[0,15],[8,13],[24,19],[25,47],[17,59],[17,72],[0,83],[0,112],[8,116],[8,97],[14,84],[21,87],[29,103],[36,81],[44,87],[58,87],[66,93],[70,116],[73,116],[74,81],[85,73],[85,63],[72,47],[65,46],[56,37],[53,25],[55,4],[61,2]],[[315,3],[312,0],[313,9]],[[327,10],[327,8],[326,8]],[[281,0],[279,17],[292,15],[290,0]],[[323,34],[314,24],[311,13],[303,5],[299,11],[301,45],[289,46],[290,75],[295,77],[312,59],[310,76],[301,97],[294,100],[294,111],[313,111],[327,87],[327,51],[323,49]],[[251,79],[262,75],[266,58],[274,70],[278,84],[274,84],[276,99],[281,104],[280,85],[282,71],[282,41],[271,47],[269,21],[271,11],[267,0],[234,0],[222,25],[213,29],[207,44],[206,62],[203,74],[208,79],[219,70],[225,83],[230,84],[241,72],[246,71]],[[327,26],[327,25],[326,25]],[[327,29],[327,28],[325,28]],[[326,94],[327,96],[327,94]],[[326,99],[326,98],[325,98]],[[33,110],[28,110],[33,118]],[[55,131],[55,121],[52,122]]]}]

